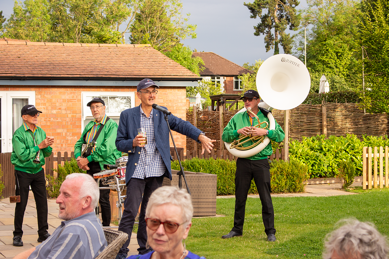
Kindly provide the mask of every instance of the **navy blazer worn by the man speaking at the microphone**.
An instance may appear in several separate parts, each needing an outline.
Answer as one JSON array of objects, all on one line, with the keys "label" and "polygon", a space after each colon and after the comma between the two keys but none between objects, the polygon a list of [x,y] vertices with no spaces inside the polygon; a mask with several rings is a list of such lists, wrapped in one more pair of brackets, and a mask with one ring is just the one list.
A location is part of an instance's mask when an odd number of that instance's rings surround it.
[{"label": "navy blazer worn by the man speaking at the microphone", "polygon": [[[163,107],[163,106],[161,106]],[[166,107],[163,107],[166,109]],[[172,179],[172,167],[170,160],[170,144],[169,144],[169,129],[165,121],[165,117],[161,111],[152,109],[154,121],[155,142],[162,160],[166,165],[166,171],[163,176]],[[174,115],[168,115],[170,129],[179,132],[191,139],[197,141],[201,130],[197,129],[190,122],[177,118]],[[124,110],[120,114],[119,126],[117,127],[116,148],[119,151],[128,153],[128,162],[126,167],[126,184],[130,181],[137,166],[141,147],[135,147],[135,152],[132,148],[132,141],[138,135],[140,128],[140,106]]]}]

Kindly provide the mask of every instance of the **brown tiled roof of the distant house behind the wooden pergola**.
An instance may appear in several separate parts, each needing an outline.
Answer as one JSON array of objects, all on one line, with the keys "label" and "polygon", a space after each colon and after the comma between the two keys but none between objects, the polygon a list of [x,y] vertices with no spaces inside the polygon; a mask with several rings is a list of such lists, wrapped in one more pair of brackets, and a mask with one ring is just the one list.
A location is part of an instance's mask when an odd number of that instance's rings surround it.
[{"label": "brown tiled roof of the distant house behind the wooden pergola", "polygon": [[252,73],[214,52],[193,52],[192,56],[201,57],[204,61],[205,70],[200,72],[201,76],[237,76]]}]

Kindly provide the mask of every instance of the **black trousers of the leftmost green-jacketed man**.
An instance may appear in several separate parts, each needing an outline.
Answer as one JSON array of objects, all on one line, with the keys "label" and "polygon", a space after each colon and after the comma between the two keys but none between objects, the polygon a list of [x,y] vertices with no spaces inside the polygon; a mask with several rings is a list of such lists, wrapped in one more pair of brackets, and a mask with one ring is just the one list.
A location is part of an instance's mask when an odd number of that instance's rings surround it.
[{"label": "black trousers of the leftmost green-jacketed man", "polygon": [[35,205],[37,207],[38,235],[46,235],[49,225],[47,224],[45,171],[42,169],[36,174],[29,174],[15,170],[15,175],[16,195],[20,195],[20,202],[16,203],[15,206],[14,236],[23,236],[22,225],[28,201],[28,192],[30,191],[29,186],[31,186],[32,193],[34,194]]}]

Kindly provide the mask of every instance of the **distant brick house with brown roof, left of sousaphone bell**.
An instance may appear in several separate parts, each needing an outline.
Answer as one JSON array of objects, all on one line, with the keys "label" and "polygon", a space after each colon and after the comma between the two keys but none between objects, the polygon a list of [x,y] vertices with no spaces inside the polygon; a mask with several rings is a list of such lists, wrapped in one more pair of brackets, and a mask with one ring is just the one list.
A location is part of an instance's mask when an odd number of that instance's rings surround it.
[{"label": "distant brick house with brown roof, left of sousaphone bell", "polygon": [[253,73],[214,52],[193,52],[192,56],[201,57],[204,61],[205,70],[200,71],[200,76],[205,80],[220,83],[225,94],[240,94],[243,85],[238,76]]}]

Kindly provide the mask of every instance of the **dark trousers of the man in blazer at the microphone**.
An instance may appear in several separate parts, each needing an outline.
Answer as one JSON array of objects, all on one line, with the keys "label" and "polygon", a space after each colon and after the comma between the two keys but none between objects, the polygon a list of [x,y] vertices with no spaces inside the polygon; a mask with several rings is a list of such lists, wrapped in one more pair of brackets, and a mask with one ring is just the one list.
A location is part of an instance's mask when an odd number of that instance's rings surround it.
[{"label": "dark trousers of the man in blazer at the microphone", "polygon": [[128,234],[128,240],[126,241],[126,243],[123,244],[123,246],[119,250],[119,253],[128,253],[129,251],[127,247],[130,244],[135,217],[138,214],[138,209],[141,202],[142,206],[140,207],[137,232],[137,240],[139,245],[138,252],[139,254],[145,254],[146,252],[148,252],[148,249],[146,249],[146,206],[147,202],[149,202],[149,197],[151,193],[155,191],[158,187],[161,187],[162,182],[163,176],[147,177],[145,179],[131,178],[130,181],[128,181],[126,191],[127,197],[126,200],[124,200],[123,217],[120,221],[118,229]]}]

